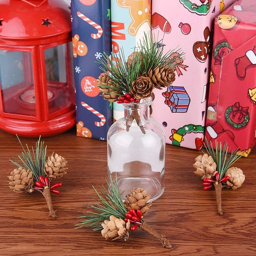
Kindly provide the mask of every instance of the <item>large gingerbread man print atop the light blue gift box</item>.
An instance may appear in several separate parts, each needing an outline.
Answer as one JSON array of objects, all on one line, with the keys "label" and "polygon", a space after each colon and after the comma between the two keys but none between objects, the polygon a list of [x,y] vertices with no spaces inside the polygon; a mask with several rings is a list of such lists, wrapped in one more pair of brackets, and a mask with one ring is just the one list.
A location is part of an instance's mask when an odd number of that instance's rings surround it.
[{"label": "large gingerbread man print atop the light blue gift box", "polygon": [[129,8],[132,22],[128,33],[136,36],[139,27],[145,22],[150,26],[150,0],[117,0],[120,7]]}]

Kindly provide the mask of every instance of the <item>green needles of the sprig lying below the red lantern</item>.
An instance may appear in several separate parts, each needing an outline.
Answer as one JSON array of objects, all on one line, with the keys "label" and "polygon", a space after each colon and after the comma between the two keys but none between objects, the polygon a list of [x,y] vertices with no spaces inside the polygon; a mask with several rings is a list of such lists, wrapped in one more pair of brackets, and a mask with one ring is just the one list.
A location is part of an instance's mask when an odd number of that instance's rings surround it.
[{"label": "green needles of the sprig lying below the red lantern", "polygon": [[17,134],[16,136],[23,149],[22,155],[18,156],[21,163],[18,163],[11,159],[9,160],[18,168],[21,167],[24,169],[28,169],[29,171],[32,171],[34,180],[39,181],[39,176],[43,176],[43,177],[45,176],[44,168],[45,168],[45,161],[46,161],[47,146],[44,146],[44,141],[40,142],[41,136],[39,136],[39,139],[37,140],[37,143],[36,143],[36,150],[34,150],[32,146],[32,152],[31,152],[27,144],[25,149]]}]

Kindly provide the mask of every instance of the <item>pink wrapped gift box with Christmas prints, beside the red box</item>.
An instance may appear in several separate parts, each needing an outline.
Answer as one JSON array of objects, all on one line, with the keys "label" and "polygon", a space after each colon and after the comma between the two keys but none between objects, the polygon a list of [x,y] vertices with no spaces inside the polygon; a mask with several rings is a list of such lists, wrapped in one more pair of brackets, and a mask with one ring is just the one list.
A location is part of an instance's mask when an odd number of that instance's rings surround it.
[{"label": "pink wrapped gift box with Christmas prints, beside the red box", "polygon": [[[213,18],[234,0],[152,0],[152,33],[167,52],[179,48],[185,59],[178,59],[172,86],[183,86],[186,107],[165,104],[162,91],[154,90],[151,117],[163,126],[169,144],[200,149],[203,144],[209,78],[209,51]],[[189,100],[190,99],[190,100]],[[181,102],[179,102],[181,104]],[[173,134],[179,139],[173,139]],[[175,137],[176,135],[174,135]]]}]

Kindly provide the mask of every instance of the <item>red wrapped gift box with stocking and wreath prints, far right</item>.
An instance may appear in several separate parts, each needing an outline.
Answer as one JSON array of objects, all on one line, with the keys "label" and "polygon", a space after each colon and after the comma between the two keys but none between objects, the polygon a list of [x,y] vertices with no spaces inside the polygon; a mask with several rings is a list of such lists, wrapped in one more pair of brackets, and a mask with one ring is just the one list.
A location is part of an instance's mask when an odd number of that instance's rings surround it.
[{"label": "red wrapped gift box with stocking and wreath prints, far right", "polygon": [[215,19],[206,138],[248,156],[256,143],[256,4],[238,0]]}]

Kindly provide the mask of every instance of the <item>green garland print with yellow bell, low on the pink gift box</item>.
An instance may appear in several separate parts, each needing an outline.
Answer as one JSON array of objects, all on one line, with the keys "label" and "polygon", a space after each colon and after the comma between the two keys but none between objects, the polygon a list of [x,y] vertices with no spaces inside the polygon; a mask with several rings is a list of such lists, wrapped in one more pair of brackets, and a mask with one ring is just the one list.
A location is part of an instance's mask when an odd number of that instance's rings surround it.
[{"label": "green garland print with yellow bell, low on the pink gift box", "polygon": [[202,125],[187,124],[179,128],[178,130],[172,129],[170,140],[172,141],[172,145],[180,146],[181,142],[184,140],[183,136],[185,134],[203,133],[204,130],[205,127]]}]

